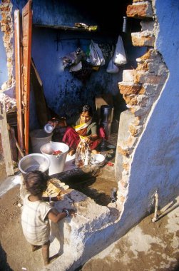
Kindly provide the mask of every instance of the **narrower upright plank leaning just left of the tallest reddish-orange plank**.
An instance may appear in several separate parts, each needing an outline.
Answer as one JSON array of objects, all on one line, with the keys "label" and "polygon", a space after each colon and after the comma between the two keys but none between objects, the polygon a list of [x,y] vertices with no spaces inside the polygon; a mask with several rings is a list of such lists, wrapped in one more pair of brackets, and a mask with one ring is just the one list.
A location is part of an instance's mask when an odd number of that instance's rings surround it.
[{"label": "narrower upright plank leaning just left of the tallest reddish-orange plank", "polygon": [[16,107],[17,107],[17,134],[21,150],[24,150],[24,116],[22,114],[22,86],[21,86],[21,34],[20,12],[14,11],[14,41],[15,41],[15,67],[16,67]]}]

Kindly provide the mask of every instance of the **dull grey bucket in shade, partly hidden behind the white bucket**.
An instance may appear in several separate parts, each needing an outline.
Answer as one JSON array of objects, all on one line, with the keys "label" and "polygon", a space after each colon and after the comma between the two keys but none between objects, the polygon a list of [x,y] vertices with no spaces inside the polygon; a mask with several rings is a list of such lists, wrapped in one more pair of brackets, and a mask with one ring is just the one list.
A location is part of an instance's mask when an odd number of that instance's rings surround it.
[{"label": "dull grey bucket in shade, partly hidden behind the white bucket", "polygon": [[33,153],[41,153],[41,146],[51,141],[53,133],[46,133],[44,129],[31,131],[31,148]]}]

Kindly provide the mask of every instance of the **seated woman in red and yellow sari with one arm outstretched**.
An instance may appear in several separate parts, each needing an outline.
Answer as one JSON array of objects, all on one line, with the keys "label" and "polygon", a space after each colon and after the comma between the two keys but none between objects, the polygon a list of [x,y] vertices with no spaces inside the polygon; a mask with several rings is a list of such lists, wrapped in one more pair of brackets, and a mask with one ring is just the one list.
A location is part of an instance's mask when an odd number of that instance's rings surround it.
[{"label": "seated woman in red and yellow sari with one arm outstretched", "polygon": [[51,123],[55,127],[66,127],[62,141],[70,147],[69,155],[76,153],[76,148],[81,137],[89,143],[93,153],[98,153],[96,148],[101,143],[102,138],[106,137],[104,128],[101,127],[98,130],[97,123],[93,121],[91,106],[87,104],[81,107],[78,116],[74,116],[69,120],[63,118],[58,121],[48,121],[48,123]]}]

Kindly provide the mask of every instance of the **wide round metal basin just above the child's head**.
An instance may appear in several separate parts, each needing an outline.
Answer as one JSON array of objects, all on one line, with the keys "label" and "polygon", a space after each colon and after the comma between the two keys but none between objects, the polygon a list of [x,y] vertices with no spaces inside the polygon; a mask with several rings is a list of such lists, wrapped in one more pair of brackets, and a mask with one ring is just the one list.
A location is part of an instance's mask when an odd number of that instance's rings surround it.
[{"label": "wide round metal basin just above the child's head", "polygon": [[19,160],[19,170],[24,175],[33,170],[39,170],[48,174],[48,168],[50,166],[50,160],[48,157],[41,153],[31,153]]}]

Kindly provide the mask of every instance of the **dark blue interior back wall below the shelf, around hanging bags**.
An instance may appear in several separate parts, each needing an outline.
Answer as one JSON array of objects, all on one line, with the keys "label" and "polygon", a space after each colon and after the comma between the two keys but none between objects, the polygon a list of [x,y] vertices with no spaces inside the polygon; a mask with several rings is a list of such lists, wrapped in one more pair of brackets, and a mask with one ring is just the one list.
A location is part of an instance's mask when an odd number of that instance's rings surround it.
[{"label": "dark blue interior back wall below the shelf, around hanging bags", "polygon": [[[39,39],[40,36],[40,39]],[[56,43],[58,36],[59,42]],[[44,85],[48,106],[56,113],[73,114],[73,106],[92,101],[100,93],[118,93],[118,81],[121,73],[106,73],[106,66],[93,72],[83,84],[78,78],[63,68],[62,58],[80,46],[86,51],[91,34],[63,33],[53,29],[33,29],[32,57]],[[100,38],[96,37],[97,41]],[[93,39],[96,41],[96,39]]]}]

